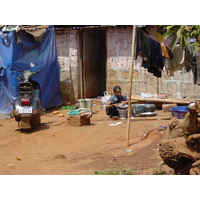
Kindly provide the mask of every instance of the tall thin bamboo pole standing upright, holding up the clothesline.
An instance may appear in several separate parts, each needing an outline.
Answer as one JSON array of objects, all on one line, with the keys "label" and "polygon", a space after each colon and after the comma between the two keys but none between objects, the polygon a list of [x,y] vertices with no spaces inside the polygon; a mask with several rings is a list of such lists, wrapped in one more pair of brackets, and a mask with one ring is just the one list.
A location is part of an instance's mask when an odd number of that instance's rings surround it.
[{"label": "tall thin bamboo pole standing upright, holding up the clothesline", "polygon": [[128,119],[127,119],[127,133],[126,133],[126,144],[129,146],[129,135],[130,135],[130,120],[131,120],[131,93],[132,93],[132,82],[133,82],[133,68],[135,59],[135,35],[136,35],[136,25],[133,26],[132,35],[132,50],[131,50],[131,66],[129,72],[129,95],[128,95]]}]

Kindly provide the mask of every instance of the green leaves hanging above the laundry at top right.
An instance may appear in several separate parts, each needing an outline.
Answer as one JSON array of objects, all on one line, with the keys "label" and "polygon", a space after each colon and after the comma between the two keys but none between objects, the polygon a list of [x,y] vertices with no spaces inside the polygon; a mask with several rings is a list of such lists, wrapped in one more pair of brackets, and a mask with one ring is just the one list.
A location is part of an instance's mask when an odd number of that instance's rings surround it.
[{"label": "green leaves hanging above the laundry at top right", "polygon": [[189,43],[190,38],[195,39],[196,51],[200,51],[200,25],[171,25],[166,26],[167,32],[164,34],[164,40],[168,37],[173,36],[171,43],[171,49],[174,49],[177,42],[180,42],[180,47],[184,48]]}]

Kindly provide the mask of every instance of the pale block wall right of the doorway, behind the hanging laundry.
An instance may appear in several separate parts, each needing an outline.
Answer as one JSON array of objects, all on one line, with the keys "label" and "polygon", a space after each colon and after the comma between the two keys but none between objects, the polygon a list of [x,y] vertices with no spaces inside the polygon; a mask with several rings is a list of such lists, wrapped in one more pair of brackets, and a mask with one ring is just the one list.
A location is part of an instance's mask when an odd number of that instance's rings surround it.
[{"label": "pale block wall right of the doorway, behind the hanging laundry", "polygon": [[[129,69],[131,65],[132,26],[107,29],[107,91],[113,93],[113,87],[119,85],[124,95],[129,91]],[[164,67],[165,69],[165,67]],[[185,69],[173,72],[169,76],[162,71],[157,78],[145,68],[133,71],[132,95],[167,94],[176,97],[178,93],[185,98],[200,98],[200,86],[195,85],[192,72]]]}]

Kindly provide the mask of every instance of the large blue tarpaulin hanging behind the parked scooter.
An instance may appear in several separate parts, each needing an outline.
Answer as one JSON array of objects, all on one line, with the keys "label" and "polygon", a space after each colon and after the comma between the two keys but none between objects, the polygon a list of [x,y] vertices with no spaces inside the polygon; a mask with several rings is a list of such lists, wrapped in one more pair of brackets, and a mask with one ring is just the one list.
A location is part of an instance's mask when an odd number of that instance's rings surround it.
[{"label": "large blue tarpaulin hanging behind the parked scooter", "polygon": [[25,31],[0,33],[0,114],[12,113],[18,96],[17,77],[24,70],[40,70],[33,80],[41,86],[43,108],[61,105],[60,66],[53,26],[47,28],[40,42]]}]

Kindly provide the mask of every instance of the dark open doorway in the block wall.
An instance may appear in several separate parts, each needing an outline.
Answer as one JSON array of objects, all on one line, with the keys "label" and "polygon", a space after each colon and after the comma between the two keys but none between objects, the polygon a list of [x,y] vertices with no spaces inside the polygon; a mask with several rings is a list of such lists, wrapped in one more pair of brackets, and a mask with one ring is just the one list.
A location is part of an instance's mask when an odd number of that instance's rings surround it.
[{"label": "dark open doorway in the block wall", "polygon": [[104,30],[83,31],[83,97],[96,98],[106,90]]}]

